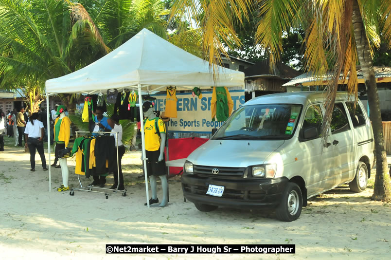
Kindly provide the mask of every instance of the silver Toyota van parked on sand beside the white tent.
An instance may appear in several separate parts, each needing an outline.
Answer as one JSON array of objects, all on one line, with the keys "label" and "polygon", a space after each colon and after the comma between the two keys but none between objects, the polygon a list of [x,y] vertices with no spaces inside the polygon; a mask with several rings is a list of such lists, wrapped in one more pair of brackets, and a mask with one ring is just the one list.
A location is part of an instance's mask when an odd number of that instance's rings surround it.
[{"label": "silver Toyota van parked on sand beside the white tent", "polygon": [[279,220],[293,221],[307,199],[324,191],[345,183],[363,191],[374,160],[368,115],[360,101],[338,92],[324,143],[324,102],[322,92],[246,102],[186,159],[185,198],[201,211],[275,207]]}]

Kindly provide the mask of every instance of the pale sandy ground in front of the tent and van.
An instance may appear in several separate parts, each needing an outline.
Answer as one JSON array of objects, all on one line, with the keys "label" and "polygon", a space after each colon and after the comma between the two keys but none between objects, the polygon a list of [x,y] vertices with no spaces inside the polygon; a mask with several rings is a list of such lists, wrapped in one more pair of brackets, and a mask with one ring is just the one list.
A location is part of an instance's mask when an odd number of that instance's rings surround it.
[{"label": "pale sandy ground in front of the tent and van", "polygon": [[[144,206],[145,184],[140,152],[123,159],[127,196],[75,191],[57,192],[61,169],[30,172],[29,154],[7,137],[0,152],[0,259],[389,259],[391,204],[370,200],[372,188],[352,193],[342,186],[311,199],[301,217],[284,223],[270,212],[219,208],[200,212],[183,202],[180,177],[169,181],[170,203]],[[52,156],[53,158],[53,156]],[[73,163],[69,161],[69,165]],[[70,169],[70,185],[78,186]],[[374,176],[374,171],[373,171]],[[83,184],[90,180],[84,177]],[[107,178],[107,186],[113,183]],[[372,187],[373,187],[373,177]],[[371,184],[370,184],[371,186]],[[158,184],[158,188],[160,184]],[[161,191],[158,191],[161,197]],[[295,244],[296,254],[283,255],[107,255],[105,244]]]}]

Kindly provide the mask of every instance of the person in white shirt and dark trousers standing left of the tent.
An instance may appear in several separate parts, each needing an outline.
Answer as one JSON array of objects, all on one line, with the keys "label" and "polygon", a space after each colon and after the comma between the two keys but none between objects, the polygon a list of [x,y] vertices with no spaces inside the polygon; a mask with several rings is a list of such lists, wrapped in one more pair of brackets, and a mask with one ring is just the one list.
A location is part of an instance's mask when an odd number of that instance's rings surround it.
[{"label": "person in white shirt and dark trousers standing left of the tent", "polygon": [[38,120],[38,117],[39,113],[33,113],[30,117],[30,121],[26,125],[26,129],[24,130],[26,137],[25,146],[28,146],[30,150],[31,171],[36,170],[36,150],[41,157],[43,170],[48,170],[46,168],[45,153],[43,151],[43,138],[45,136],[45,129],[43,128],[42,122]]}]

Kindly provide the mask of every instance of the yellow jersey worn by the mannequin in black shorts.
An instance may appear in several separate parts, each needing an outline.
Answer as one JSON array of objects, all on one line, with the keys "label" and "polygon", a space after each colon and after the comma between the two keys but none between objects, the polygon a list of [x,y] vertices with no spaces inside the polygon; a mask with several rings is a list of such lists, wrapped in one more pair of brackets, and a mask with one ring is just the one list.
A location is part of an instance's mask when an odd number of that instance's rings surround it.
[{"label": "yellow jersey worn by the mannequin in black shorts", "polygon": [[158,120],[158,127],[160,133],[165,133],[166,129],[159,117],[154,119],[145,119],[144,120],[144,136],[145,136],[145,150],[147,151],[157,151],[160,149],[160,136],[156,130],[155,120]]}]

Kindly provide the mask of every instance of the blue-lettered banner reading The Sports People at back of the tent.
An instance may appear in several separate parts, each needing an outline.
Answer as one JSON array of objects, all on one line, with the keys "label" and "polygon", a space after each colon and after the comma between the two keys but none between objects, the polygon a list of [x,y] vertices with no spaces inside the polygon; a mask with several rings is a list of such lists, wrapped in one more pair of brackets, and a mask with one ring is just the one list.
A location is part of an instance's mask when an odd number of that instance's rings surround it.
[{"label": "blue-lettered banner reading The Sports People at back of the tent", "polygon": [[[233,110],[235,111],[245,103],[244,90],[229,91],[233,101]],[[164,111],[166,103],[166,94],[151,95],[156,97],[155,110]],[[211,100],[212,91],[202,92],[202,98],[199,99],[193,93],[177,93],[177,111],[178,117],[171,118],[168,121],[168,131],[170,132],[196,132],[210,133],[213,128],[219,128],[224,122],[212,121]]]}]

